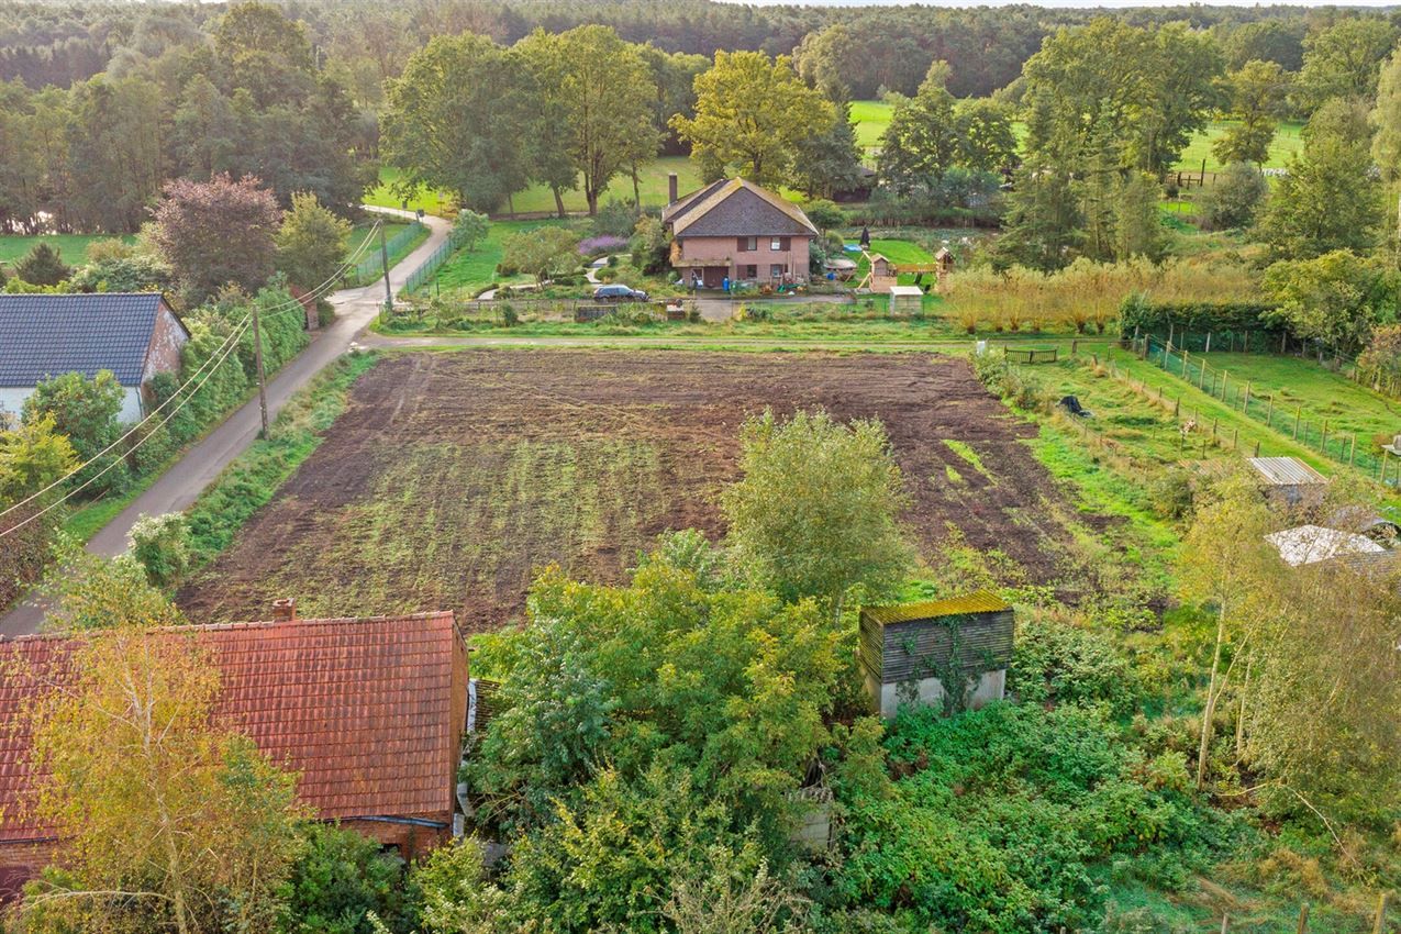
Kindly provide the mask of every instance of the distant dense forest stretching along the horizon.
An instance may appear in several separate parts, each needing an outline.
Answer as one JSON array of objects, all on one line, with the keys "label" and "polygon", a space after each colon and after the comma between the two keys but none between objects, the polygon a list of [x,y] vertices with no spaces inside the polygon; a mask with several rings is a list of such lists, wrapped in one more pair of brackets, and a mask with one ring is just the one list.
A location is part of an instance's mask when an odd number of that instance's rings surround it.
[{"label": "distant dense forest stretching along the horizon", "polygon": [[[1302,62],[1310,29],[1327,27],[1338,10],[1304,7],[1149,7],[1065,10],[1031,6],[944,10],[933,7],[751,7],[700,0],[656,4],[549,3],[545,0],[294,0],[286,13],[307,25],[318,56],[363,97],[396,74],[403,57],[432,36],[464,31],[514,43],[535,28],[563,32],[602,24],[629,42],[665,52],[713,56],[716,50],[786,55],[820,34],[843,34],[839,67],[856,98],[880,90],[913,94],[930,63],[950,64],[948,90],[982,97],[1010,84],[1041,41],[1063,25],[1108,13],[1131,25],[1187,22],[1212,29],[1238,63],[1271,59],[1288,70]],[[0,80],[32,88],[67,87],[104,70],[122,74],[143,57],[188,42],[224,13],[226,4],[10,3],[0,8]],[[1244,56],[1244,57],[1243,57]]]}]

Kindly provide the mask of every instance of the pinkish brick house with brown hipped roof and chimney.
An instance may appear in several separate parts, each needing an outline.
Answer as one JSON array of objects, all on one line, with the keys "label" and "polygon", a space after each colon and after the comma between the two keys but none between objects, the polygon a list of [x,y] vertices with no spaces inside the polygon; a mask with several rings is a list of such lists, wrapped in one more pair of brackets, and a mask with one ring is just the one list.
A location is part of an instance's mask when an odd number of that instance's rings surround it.
[{"label": "pinkish brick house with brown hipped roof and chimney", "polygon": [[794,283],[808,279],[817,228],[797,204],[743,178],[722,179],[671,203],[661,223],[671,234],[671,266],[686,284]]}]

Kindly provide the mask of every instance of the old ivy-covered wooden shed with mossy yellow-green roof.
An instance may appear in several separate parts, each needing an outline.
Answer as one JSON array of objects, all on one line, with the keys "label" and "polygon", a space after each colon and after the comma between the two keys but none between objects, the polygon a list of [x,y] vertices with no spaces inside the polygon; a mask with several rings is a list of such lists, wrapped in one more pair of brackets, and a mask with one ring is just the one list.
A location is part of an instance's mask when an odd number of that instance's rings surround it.
[{"label": "old ivy-covered wooden shed with mossy yellow-green roof", "polygon": [[860,660],[871,707],[894,717],[902,703],[950,710],[1000,700],[1016,613],[996,594],[864,606]]}]

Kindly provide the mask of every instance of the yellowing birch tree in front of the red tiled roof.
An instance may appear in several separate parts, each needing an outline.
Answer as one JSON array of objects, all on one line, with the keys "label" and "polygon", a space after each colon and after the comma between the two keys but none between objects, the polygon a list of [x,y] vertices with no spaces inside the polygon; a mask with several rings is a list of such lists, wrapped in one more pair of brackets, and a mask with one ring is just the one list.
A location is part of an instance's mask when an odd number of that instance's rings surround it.
[{"label": "yellowing birch tree in front of the red tiled roof", "polygon": [[210,723],[219,669],[188,634],[127,627],[31,671],[36,811],[60,839],[27,930],[268,930],[297,849],[296,780]]}]

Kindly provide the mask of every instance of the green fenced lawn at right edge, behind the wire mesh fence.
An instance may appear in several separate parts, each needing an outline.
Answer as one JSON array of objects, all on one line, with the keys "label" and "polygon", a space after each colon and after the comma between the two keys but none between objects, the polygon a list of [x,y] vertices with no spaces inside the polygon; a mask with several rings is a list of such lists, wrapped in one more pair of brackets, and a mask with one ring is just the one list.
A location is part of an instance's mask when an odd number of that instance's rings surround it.
[{"label": "green fenced lawn at right edge, behind the wire mesh fence", "polygon": [[1278,412],[1300,412],[1302,420],[1314,426],[1327,419],[1330,437],[1355,434],[1360,448],[1380,452],[1373,444],[1376,435],[1390,444],[1393,435],[1401,434],[1401,403],[1313,360],[1254,353],[1192,354],[1191,358],[1203,357],[1210,368],[1229,374],[1233,386],[1248,382],[1252,398],[1274,396]]}]

